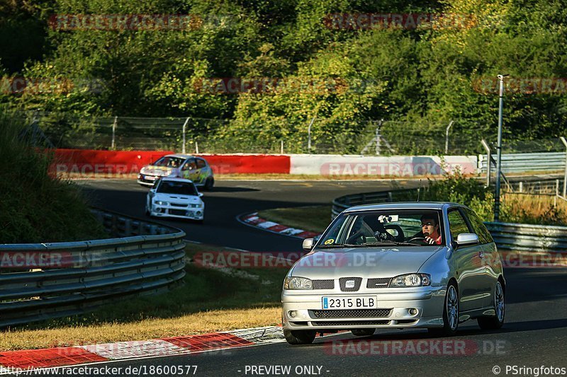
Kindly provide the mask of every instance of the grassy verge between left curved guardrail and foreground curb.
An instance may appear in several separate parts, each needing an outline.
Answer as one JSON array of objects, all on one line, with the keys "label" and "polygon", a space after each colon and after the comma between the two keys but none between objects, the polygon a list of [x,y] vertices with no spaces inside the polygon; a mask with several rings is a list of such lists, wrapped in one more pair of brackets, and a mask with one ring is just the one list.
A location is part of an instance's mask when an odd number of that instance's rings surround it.
[{"label": "grassy verge between left curved guardrail and foreground curb", "polygon": [[4,331],[0,351],[279,325],[281,284],[287,269],[220,270],[191,263],[196,253],[218,251],[234,250],[189,244],[184,286],[159,296],[123,300],[92,313]]}]

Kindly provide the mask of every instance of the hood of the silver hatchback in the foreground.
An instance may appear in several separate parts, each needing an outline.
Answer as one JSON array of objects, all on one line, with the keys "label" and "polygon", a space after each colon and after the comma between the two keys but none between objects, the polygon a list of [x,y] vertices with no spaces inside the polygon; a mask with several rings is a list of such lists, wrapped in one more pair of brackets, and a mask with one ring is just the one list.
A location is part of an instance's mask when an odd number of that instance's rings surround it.
[{"label": "hood of the silver hatchback in the foreground", "polygon": [[395,248],[340,248],[309,253],[293,267],[292,276],[309,279],[339,277],[395,277],[418,272],[444,246]]}]

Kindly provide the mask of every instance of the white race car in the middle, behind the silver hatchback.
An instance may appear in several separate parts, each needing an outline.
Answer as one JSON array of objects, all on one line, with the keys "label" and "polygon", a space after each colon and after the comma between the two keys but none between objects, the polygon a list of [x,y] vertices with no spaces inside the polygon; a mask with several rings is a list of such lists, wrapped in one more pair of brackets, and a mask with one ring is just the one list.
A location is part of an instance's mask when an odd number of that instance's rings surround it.
[{"label": "white race car in the middle, behind the silver hatchback", "polygon": [[147,216],[177,217],[203,224],[205,203],[191,180],[184,178],[159,178],[147,193]]}]

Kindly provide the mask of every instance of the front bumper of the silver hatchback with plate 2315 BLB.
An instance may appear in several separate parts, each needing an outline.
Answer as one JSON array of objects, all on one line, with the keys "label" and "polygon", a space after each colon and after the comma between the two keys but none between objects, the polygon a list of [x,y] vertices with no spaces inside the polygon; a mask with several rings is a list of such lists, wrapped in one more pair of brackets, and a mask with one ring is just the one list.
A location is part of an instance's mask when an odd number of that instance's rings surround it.
[{"label": "front bumper of the silver hatchback with plate 2315 BLB", "polygon": [[[444,287],[396,288],[379,292],[329,292],[286,291],[281,295],[283,328],[286,330],[350,330],[376,327],[442,327],[445,299]],[[386,313],[366,316],[365,310],[349,308],[322,310],[322,297],[376,296],[377,309]],[[417,309],[412,315],[409,309]],[[292,317],[291,311],[296,315]],[[357,312],[357,313],[355,313]],[[319,316],[318,316],[319,315]],[[346,315],[346,316],[345,316]]]}]

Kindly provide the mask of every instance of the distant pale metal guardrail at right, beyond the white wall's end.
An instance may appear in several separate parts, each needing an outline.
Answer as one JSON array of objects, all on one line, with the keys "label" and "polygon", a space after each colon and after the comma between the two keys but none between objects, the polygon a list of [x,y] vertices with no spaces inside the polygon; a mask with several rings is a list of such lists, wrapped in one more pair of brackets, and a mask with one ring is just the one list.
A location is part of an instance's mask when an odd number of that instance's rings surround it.
[{"label": "distant pale metal guardrail at right, beyond the white wall's end", "polygon": [[[495,158],[495,155],[493,155]],[[478,169],[486,173],[488,155],[478,156]],[[504,173],[522,173],[526,171],[565,170],[565,152],[544,153],[503,153],[502,171]]]}]

